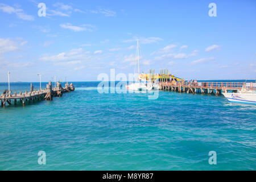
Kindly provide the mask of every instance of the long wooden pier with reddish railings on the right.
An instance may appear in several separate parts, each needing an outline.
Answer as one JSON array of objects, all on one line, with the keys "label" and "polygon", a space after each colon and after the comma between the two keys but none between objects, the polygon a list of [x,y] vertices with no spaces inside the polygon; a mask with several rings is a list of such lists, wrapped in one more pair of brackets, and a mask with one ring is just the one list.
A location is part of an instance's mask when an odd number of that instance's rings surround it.
[{"label": "long wooden pier with reddish railings on the right", "polygon": [[[250,85],[248,85],[250,84]],[[221,93],[234,92],[237,93],[243,86],[247,89],[253,90],[254,84],[245,82],[173,82],[160,81],[160,90],[168,90],[173,92],[187,92],[200,94],[213,94],[220,96]]]}]

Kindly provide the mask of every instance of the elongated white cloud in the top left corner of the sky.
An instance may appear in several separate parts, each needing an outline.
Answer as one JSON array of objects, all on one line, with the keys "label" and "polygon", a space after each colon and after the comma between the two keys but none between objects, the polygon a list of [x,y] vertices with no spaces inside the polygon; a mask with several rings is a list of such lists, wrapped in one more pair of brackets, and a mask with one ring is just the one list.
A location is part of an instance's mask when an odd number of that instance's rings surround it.
[{"label": "elongated white cloud in the top left corner of the sky", "polygon": [[29,21],[34,20],[34,16],[27,15],[26,13],[24,13],[24,11],[22,9],[18,9],[16,7],[5,5],[3,3],[0,3],[0,10],[3,11],[4,13],[8,13],[8,14],[14,13],[14,14],[16,14],[16,16],[19,19],[29,20]]}]

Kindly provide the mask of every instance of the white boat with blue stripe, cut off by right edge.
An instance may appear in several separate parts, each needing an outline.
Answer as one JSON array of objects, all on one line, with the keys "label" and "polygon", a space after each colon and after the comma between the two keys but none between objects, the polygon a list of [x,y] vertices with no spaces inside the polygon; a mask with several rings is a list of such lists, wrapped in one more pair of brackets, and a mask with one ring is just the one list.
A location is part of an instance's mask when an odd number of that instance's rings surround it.
[{"label": "white boat with blue stripe, cut off by right edge", "polygon": [[238,93],[222,93],[230,102],[245,104],[256,104],[256,93],[254,90],[247,90],[246,85]]}]

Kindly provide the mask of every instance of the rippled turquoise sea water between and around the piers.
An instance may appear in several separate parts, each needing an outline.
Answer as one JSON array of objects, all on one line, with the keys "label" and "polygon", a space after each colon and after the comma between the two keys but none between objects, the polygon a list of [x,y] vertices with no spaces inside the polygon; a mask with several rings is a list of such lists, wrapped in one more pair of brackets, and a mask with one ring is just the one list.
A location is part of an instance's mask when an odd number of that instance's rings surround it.
[{"label": "rippled turquoise sea water between and around the piers", "polygon": [[166,91],[148,100],[151,93],[100,94],[98,82],[73,84],[75,92],[53,101],[0,107],[1,170],[256,169],[255,105]]}]

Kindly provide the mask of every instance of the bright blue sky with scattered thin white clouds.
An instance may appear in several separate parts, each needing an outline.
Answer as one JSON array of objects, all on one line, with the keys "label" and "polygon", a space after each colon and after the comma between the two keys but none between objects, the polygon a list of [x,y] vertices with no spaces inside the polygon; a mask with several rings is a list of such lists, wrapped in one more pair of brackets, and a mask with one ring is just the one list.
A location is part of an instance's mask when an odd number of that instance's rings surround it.
[{"label": "bright blue sky with scattered thin white clouds", "polygon": [[[39,16],[39,3],[46,16]],[[209,16],[210,3],[216,16]],[[212,11],[211,11],[212,12]],[[42,13],[42,12],[41,12]],[[0,82],[97,81],[161,68],[197,80],[256,78],[256,1],[0,1]]]}]

